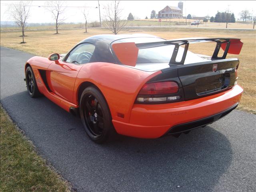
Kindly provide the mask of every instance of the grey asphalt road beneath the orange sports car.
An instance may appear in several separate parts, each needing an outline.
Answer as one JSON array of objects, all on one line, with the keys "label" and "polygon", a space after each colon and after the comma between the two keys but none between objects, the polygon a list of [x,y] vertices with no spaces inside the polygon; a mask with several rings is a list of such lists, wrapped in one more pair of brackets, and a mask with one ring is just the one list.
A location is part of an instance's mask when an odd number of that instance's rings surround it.
[{"label": "grey asphalt road beneath the orange sports car", "polygon": [[182,134],[143,140],[120,136],[105,145],[80,120],[26,92],[31,54],[1,47],[1,103],[39,152],[78,191],[255,191],[256,116],[234,110]]}]

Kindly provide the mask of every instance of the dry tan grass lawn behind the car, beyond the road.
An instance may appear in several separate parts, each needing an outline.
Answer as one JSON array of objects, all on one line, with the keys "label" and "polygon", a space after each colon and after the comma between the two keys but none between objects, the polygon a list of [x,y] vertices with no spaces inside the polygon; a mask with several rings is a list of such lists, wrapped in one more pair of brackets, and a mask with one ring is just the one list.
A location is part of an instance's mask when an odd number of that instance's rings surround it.
[{"label": "dry tan grass lawn behind the car, beyond the road", "polygon": [[[236,24],[237,25],[237,24]],[[54,34],[54,30],[25,32],[26,44],[20,44],[20,32],[1,32],[0,45],[22,50],[38,56],[48,56],[53,52],[66,53],[75,44],[92,35],[111,34],[102,28],[61,30]],[[238,109],[256,114],[256,30],[219,30],[202,28],[136,28],[125,29],[120,34],[147,33],[165,39],[190,37],[230,37],[241,38],[244,46],[240,55],[228,54],[227,58],[240,60],[238,68],[238,84],[244,88],[244,94]],[[191,44],[189,50],[199,54],[211,55],[215,48],[214,43]]]}]

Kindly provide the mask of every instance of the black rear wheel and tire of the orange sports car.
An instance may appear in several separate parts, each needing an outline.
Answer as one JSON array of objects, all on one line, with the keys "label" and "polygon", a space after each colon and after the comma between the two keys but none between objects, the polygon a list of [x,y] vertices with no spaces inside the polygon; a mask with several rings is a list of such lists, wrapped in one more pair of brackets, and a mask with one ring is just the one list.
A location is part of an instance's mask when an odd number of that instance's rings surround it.
[{"label": "black rear wheel and tire of the orange sports car", "polygon": [[94,142],[102,144],[116,134],[106,100],[94,86],[90,86],[82,92],[80,116],[86,134]]}]

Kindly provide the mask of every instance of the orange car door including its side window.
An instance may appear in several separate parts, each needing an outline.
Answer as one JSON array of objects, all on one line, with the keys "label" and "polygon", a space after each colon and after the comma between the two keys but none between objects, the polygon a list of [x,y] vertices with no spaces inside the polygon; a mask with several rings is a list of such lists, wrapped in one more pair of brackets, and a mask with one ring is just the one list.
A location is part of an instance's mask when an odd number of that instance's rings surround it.
[{"label": "orange car door including its side window", "polygon": [[82,66],[90,62],[95,46],[89,43],[78,44],[63,60],[53,62],[50,70],[50,88],[52,92],[65,100],[73,101],[76,76]]}]

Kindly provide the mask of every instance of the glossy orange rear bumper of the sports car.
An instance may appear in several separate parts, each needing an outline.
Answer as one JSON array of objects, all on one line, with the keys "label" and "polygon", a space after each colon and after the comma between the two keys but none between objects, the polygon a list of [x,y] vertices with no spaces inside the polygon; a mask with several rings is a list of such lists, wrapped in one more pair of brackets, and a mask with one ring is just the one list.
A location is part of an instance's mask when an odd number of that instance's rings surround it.
[{"label": "glossy orange rear bumper of the sports car", "polygon": [[[119,134],[138,138],[158,138],[180,125],[185,125],[184,127],[187,127],[185,129],[190,130],[198,126],[189,127],[187,123],[211,118],[218,114],[220,116],[228,114],[225,111],[237,106],[242,92],[243,89],[236,85],[224,92],[194,100],[170,104],[134,104],[129,123],[117,120],[112,120],[112,122]],[[208,119],[208,124],[215,120],[218,119],[215,118],[212,121]],[[177,130],[179,129],[176,128],[175,132],[179,132]]]}]

